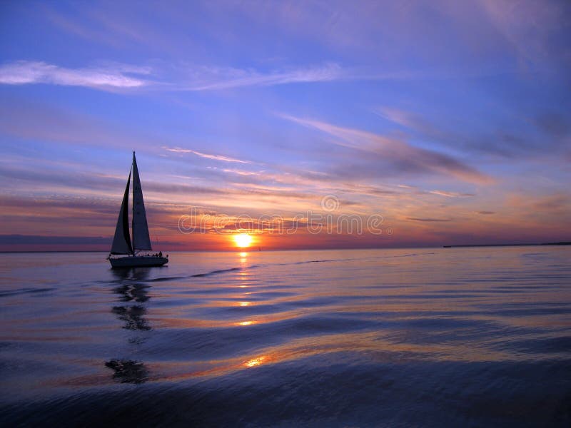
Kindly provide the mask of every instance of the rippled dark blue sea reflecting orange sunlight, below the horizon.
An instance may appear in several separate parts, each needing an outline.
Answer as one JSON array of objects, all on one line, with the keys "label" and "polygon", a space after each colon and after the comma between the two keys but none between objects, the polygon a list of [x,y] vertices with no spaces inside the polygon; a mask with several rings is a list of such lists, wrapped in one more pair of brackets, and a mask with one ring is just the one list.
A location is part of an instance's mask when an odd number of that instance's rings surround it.
[{"label": "rippled dark blue sea reflecting orange sunlight, below the horizon", "polygon": [[0,255],[0,424],[571,425],[571,248]]}]

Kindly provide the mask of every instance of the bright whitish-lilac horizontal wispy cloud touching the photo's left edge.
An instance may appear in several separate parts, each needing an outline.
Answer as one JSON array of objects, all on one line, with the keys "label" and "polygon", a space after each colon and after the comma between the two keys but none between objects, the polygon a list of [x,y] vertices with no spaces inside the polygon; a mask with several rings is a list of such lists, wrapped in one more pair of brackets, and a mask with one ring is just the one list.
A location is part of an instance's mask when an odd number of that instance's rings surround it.
[{"label": "bright whitish-lilac horizontal wispy cloud touching the photo's left edge", "polygon": [[24,85],[51,83],[88,88],[138,88],[150,82],[132,76],[148,74],[150,69],[117,64],[103,68],[64,68],[41,61],[16,61],[0,66],[0,83]]}]

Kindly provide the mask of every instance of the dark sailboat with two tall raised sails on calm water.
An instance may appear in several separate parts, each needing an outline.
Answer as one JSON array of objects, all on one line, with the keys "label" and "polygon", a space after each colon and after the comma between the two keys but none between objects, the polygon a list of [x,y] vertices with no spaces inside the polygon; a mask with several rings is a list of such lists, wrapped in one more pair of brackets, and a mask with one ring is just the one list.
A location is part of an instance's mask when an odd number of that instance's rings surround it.
[{"label": "dark sailboat with two tall raised sails on calm water", "polygon": [[[131,183],[131,172],[133,173],[133,215],[131,228],[133,230],[133,240],[129,235],[129,184]],[[127,178],[127,186],[123,194],[121,210],[115,228],[115,236],[111,245],[111,253],[107,260],[111,267],[138,267],[138,266],[162,266],[168,263],[168,256],[141,255],[141,251],[152,250],[151,238],[148,236],[147,215],[145,203],[143,202],[143,189],[141,179],[138,176],[137,160],[133,151],[133,165]],[[113,258],[112,255],[126,255],[126,257]]]}]

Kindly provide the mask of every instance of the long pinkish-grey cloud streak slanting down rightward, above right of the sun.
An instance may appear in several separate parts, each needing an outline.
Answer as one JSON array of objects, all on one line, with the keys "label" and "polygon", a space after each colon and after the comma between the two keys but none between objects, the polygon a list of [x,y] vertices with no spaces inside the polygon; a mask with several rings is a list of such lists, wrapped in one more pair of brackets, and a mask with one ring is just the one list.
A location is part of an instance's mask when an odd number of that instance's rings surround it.
[{"label": "long pinkish-grey cloud streak slanting down rightward, above right of the sun", "polygon": [[335,137],[332,142],[338,146],[375,153],[378,161],[388,162],[403,172],[441,173],[452,175],[470,183],[491,183],[493,181],[492,178],[456,160],[452,156],[411,146],[397,138],[389,138],[367,131],[343,128],[330,123],[296,118],[285,114],[278,116],[307,128],[314,128],[328,133],[330,136]]}]

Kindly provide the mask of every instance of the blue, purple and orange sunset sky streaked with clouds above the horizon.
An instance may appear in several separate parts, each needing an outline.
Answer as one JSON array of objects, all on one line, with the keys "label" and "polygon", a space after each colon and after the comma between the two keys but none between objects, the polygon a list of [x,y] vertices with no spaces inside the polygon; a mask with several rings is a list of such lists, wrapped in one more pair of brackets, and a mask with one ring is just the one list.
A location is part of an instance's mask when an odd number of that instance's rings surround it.
[{"label": "blue, purple and orange sunset sky streaked with clouds above the horizon", "polygon": [[3,1],[0,250],[108,250],[132,151],[157,250],[571,240],[570,40],[568,1]]}]

